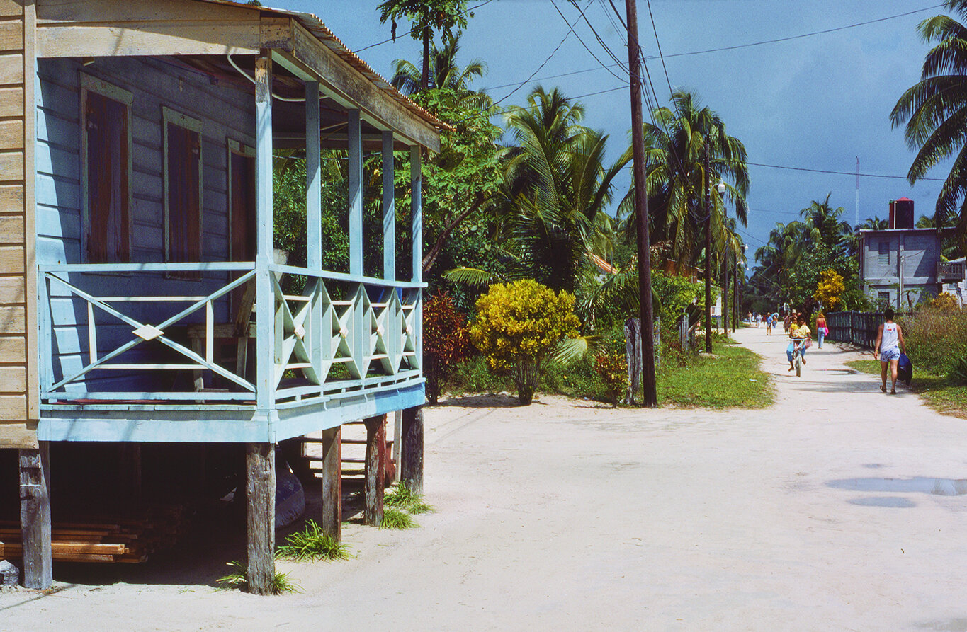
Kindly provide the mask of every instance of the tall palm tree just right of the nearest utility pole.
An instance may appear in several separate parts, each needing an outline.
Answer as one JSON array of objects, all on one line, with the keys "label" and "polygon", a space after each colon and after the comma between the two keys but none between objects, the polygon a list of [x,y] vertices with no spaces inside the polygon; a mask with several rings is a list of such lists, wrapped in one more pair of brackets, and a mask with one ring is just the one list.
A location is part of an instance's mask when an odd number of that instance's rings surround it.
[{"label": "tall palm tree just right of the nearest utility pole", "polygon": [[[714,185],[725,183],[725,197],[731,201],[743,225],[747,222],[748,168],[746,148],[725,132],[725,124],[708,106],[702,107],[689,92],[672,95],[672,106],[656,108],[655,123],[646,123],[645,158],[649,193],[649,215],[653,242],[671,244],[677,262],[693,264],[702,251],[704,194],[713,185],[713,226],[723,225],[714,215],[724,212]],[[705,172],[704,155],[709,153]]]}]

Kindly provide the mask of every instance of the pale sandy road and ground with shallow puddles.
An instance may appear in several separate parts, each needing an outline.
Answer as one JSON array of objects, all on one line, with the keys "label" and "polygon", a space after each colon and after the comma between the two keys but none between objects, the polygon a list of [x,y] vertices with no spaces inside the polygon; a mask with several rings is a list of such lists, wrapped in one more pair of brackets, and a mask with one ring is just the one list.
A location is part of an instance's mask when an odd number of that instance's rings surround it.
[{"label": "pale sandy road and ground with shallow puddles", "polygon": [[780,337],[737,337],[770,409],[427,408],[436,513],[347,526],[355,560],[280,562],[302,593],[15,589],[0,629],[967,630],[967,421],[882,394],[855,352],[813,347],[795,378]]}]

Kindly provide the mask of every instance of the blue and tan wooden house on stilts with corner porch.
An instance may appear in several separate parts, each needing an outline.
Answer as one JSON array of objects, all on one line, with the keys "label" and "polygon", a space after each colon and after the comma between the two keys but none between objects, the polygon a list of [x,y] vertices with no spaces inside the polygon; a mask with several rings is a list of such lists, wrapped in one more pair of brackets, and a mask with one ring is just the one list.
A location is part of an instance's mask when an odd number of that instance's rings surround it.
[{"label": "blue and tan wooden house on stilts with corner porch", "polygon": [[[421,486],[420,156],[440,126],[311,14],[0,0],[0,448],[18,450],[26,586],[51,582],[61,442],[245,445],[256,592],[274,572],[274,445],[322,432],[336,533],[341,424],[378,437],[402,411],[401,475]],[[305,266],[274,256],[279,147],[305,149]],[[348,156],[348,271],[322,265],[320,148]],[[399,231],[394,150],[412,176]],[[364,151],[385,166],[381,276],[364,274]]]}]

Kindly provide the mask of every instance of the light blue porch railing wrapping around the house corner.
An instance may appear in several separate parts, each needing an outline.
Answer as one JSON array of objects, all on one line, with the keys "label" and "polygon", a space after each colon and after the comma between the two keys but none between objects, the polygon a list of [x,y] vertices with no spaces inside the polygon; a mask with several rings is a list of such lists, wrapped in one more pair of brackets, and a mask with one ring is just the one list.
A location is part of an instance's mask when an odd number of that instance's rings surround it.
[{"label": "light blue porch railing wrapping around the house corner", "polygon": [[[39,272],[44,407],[284,408],[423,381],[422,283],[252,263],[44,265]],[[271,308],[256,302],[240,330],[232,310],[257,283],[269,288],[262,296]],[[219,353],[239,340],[235,359]]]}]

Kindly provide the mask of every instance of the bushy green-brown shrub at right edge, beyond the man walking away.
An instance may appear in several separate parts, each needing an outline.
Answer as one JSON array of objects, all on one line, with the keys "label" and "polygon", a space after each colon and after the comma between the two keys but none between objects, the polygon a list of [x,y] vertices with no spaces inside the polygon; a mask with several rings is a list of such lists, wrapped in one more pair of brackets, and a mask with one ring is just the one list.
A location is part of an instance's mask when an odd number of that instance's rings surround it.
[{"label": "bushy green-brown shrub at right edge, beyond the man walking away", "polygon": [[922,307],[900,323],[914,365],[944,375],[967,358],[967,312]]}]

